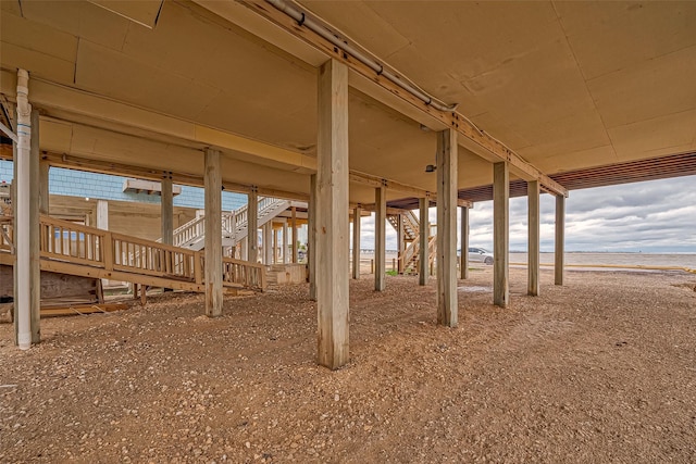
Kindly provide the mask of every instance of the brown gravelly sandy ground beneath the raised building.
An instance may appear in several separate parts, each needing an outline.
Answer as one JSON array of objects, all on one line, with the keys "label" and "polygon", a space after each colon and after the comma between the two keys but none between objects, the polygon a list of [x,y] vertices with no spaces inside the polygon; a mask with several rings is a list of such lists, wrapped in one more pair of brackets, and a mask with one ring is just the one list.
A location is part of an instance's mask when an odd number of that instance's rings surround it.
[{"label": "brown gravelly sandy ground beneath the raised building", "polygon": [[[306,285],[225,302],[0,326],[0,462],[587,462],[696,460],[696,276],[542,274],[492,305],[460,281],[459,328],[434,286],[351,281],[351,362],[318,367]],[[135,304],[135,303],[134,303]]]}]

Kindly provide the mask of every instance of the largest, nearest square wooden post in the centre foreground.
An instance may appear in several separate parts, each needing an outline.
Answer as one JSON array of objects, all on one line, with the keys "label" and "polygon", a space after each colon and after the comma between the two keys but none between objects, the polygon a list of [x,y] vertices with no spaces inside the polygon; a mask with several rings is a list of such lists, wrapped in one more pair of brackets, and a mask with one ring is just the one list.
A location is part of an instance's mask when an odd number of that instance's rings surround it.
[{"label": "largest, nearest square wooden post in the centre foreground", "polygon": [[348,352],[348,66],[319,71],[316,308],[319,363],[338,368]]}]

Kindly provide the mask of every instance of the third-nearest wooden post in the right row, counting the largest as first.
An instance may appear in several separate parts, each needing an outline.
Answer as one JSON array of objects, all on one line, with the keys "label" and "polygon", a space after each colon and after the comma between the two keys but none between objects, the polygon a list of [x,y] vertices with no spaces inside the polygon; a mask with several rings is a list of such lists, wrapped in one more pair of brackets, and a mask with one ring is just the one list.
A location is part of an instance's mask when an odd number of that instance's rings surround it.
[{"label": "third-nearest wooden post in the right row, counting the largest as first", "polygon": [[493,165],[493,303],[505,308],[510,300],[509,288],[509,200],[510,171],[508,163]]}]

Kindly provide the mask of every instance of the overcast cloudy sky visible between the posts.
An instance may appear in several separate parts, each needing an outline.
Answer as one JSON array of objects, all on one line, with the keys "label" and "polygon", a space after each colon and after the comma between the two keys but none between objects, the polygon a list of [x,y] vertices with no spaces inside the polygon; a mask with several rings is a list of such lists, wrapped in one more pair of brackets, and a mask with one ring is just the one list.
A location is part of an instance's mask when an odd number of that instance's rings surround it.
[{"label": "overcast cloudy sky visible between the posts", "polygon": [[[556,201],[540,197],[542,252],[554,251]],[[510,199],[510,251],[527,248],[526,197]],[[431,208],[435,223],[436,212]],[[493,249],[493,201],[470,210],[470,246]],[[457,230],[459,230],[458,214]],[[362,220],[361,248],[374,248],[374,215]],[[458,244],[459,247],[459,244]],[[396,250],[387,225],[387,250]],[[696,253],[696,176],[571,190],[566,200],[566,251]]]}]

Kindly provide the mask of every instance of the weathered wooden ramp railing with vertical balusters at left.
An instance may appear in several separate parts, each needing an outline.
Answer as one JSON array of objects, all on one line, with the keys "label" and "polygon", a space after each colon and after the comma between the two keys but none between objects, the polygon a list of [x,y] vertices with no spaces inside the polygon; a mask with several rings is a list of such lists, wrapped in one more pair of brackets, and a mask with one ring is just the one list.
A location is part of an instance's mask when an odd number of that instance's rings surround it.
[{"label": "weathered wooden ramp railing with vertical balusters at left", "polygon": [[[204,253],[199,251],[101,230],[45,215],[40,216],[39,227],[42,259],[115,272],[121,277],[133,274],[198,286],[204,284]],[[8,248],[10,250],[12,226],[10,223],[3,223],[2,228],[0,249]],[[5,243],[7,241],[9,243]],[[223,285],[263,290],[265,289],[265,267],[225,258]]]}]

